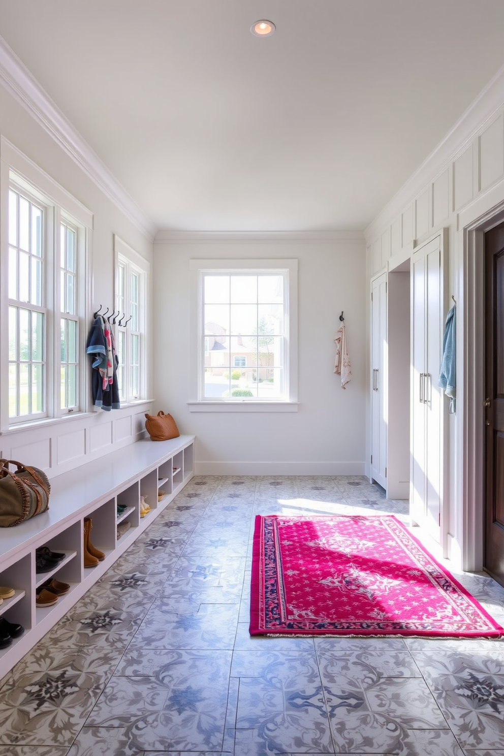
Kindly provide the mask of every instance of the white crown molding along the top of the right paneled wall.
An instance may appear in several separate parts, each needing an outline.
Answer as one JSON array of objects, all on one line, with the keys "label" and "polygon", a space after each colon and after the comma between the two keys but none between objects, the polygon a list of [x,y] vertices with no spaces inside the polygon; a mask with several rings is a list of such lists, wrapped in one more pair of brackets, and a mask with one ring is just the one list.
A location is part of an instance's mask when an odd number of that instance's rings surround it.
[{"label": "white crown molding along the top of the right paneled wall", "polygon": [[364,231],[366,240],[373,241],[400,212],[412,202],[430,181],[472,144],[472,141],[495,119],[504,106],[504,66],[481,90],[467,110],[455,122],[437,147],[408,178],[400,190],[376,215]]}]

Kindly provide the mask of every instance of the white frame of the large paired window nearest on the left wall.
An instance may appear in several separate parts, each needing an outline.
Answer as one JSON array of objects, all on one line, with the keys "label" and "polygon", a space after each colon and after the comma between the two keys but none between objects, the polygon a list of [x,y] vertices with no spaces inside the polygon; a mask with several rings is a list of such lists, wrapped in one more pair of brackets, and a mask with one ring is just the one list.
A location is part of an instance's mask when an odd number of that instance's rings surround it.
[{"label": "white frame of the large paired window nearest on the left wall", "polygon": [[76,417],[88,411],[88,364],[79,360],[78,403],[76,407],[60,407],[60,225],[68,222],[77,231],[78,261],[77,317],[78,354],[85,351],[86,314],[91,302],[91,237],[93,215],[51,176],[42,171],[17,147],[0,137],[0,215],[8,218],[10,187],[42,206],[45,243],[45,411],[28,416],[9,417],[8,406],[8,223],[0,230],[0,429],[2,433],[51,423],[57,419]]}]

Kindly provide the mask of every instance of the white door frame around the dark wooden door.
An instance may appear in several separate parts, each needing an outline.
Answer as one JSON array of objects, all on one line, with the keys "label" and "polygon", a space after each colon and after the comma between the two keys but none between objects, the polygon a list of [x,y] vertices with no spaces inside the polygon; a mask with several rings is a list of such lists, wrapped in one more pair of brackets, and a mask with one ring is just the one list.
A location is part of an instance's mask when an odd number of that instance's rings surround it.
[{"label": "white door frame around the dark wooden door", "polygon": [[[499,200],[491,203],[492,200]],[[489,207],[490,201],[490,208]],[[504,187],[497,185],[457,215],[456,491],[452,541],[462,569],[484,565],[484,234],[504,222]],[[459,424],[460,423],[460,424]]]}]

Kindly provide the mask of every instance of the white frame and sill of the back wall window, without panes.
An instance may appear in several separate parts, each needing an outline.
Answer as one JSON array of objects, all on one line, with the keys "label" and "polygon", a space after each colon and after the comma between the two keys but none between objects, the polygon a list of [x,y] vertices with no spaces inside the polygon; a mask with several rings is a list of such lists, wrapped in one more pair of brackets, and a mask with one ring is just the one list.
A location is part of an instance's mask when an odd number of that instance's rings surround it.
[{"label": "white frame and sill of the back wall window, without panes", "polygon": [[[203,398],[204,332],[203,277],[205,274],[281,273],[285,277],[286,348],[283,399]],[[297,412],[298,411],[298,261],[296,259],[193,259],[190,260],[190,400],[191,412]]]}]

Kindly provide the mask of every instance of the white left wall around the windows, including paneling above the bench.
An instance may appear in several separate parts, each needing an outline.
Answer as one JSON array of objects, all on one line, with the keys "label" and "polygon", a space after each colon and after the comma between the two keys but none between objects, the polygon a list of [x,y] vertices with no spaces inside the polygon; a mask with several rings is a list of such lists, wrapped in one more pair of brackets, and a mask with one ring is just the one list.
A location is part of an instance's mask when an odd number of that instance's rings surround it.
[{"label": "white left wall around the windows, including paneling above the bench", "polygon": [[[139,230],[138,223],[133,222],[127,210],[111,201],[48,130],[40,125],[39,120],[2,85],[0,135],[93,214],[90,271],[93,294],[87,321],[82,324],[87,330],[94,308],[100,304],[113,307],[113,234],[121,237],[147,260],[152,260],[152,241]],[[82,355],[82,359],[88,358]],[[128,407],[110,413],[97,411],[9,431],[0,437],[0,453],[3,457],[39,466],[54,477],[103,456],[114,448],[134,442],[144,434],[143,412],[149,408],[150,404],[147,403],[143,407]]]}]

